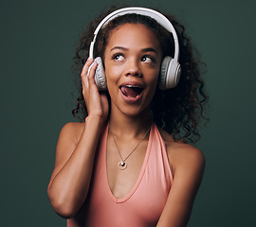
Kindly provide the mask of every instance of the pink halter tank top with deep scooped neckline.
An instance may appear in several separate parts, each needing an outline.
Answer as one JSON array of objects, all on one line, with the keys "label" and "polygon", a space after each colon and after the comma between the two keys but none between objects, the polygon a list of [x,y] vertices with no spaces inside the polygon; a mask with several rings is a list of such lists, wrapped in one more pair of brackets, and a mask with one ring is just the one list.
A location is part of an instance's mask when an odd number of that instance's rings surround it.
[{"label": "pink halter tank top with deep scooped neckline", "polygon": [[67,227],[155,226],[173,183],[165,143],[155,123],[137,183],[119,200],[112,194],[107,179],[107,135],[108,125],[102,132],[87,199],[75,218],[67,220]]}]

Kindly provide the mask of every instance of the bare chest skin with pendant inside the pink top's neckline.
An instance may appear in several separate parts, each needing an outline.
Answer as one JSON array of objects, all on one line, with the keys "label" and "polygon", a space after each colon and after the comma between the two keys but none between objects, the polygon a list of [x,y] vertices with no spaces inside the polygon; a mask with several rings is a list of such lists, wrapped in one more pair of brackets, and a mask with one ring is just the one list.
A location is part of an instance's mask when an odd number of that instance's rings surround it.
[{"label": "bare chest skin with pendant inside the pink top's neckline", "polygon": [[[146,166],[148,140],[117,146],[110,137],[106,145],[106,170],[109,188],[117,199],[127,196],[135,187],[143,167]],[[122,166],[122,162],[124,166]]]}]

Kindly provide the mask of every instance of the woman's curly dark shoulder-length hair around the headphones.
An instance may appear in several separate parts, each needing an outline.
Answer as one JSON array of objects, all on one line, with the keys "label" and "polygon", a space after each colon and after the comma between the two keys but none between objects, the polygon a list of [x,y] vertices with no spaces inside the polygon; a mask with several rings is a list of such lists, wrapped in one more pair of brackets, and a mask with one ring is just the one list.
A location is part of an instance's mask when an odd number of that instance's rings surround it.
[{"label": "woman's curly dark shoulder-length hair around the headphones", "polygon": [[[78,77],[82,66],[88,58],[89,45],[93,38],[93,32],[101,20],[114,9],[101,14],[99,19],[91,22],[82,33],[80,44],[76,49],[74,58],[74,74],[80,95],[76,101],[76,108],[72,111],[75,117],[84,121],[87,116],[85,102],[82,96],[82,82]],[[178,23],[174,16],[164,14],[173,24],[179,42],[179,63],[181,66],[181,77],[179,83],[173,89],[160,90],[156,88],[155,96],[151,102],[151,115],[155,123],[174,136],[174,140],[195,143],[200,139],[198,127],[201,119],[208,121],[205,117],[204,107],[208,96],[204,91],[202,75],[205,72],[205,64],[200,60],[197,50],[192,46],[191,38],[185,34],[185,28]],[[113,19],[101,28],[95,44],[95,56],[104,59],[104,50],[107,45],[110,32],[124,24],[142,24],[149,27],[159,40],[162,57],[174,57],[174,38],[164,27],[160,26],[154,19],[138,15],[125,14]],[[110,96],[106,92],[109,100]]]}]

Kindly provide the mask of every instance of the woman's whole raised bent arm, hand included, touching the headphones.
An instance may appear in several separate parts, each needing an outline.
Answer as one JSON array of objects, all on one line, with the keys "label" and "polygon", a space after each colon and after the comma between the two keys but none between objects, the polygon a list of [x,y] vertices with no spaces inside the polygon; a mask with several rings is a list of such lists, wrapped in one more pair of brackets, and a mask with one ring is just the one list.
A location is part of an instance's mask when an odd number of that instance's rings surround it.
[{"label": "woman's whole raised bent arm, hand included, touching the headphones", "polygon": [[68,123],[60,133],[56,162],[47,193],[54,210],[64,218],[73,217],[85,201],[101,127],[108,113],[106,96],[100,96],[94,83],[97,64],[82,69],[82,91],[88,110],[84,124]]}]

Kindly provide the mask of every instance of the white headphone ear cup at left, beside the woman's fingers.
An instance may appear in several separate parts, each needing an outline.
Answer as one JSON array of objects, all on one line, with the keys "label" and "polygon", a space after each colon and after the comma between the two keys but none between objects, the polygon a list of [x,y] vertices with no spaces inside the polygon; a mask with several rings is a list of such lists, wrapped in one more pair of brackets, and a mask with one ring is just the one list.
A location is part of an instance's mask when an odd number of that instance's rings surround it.
[{"label": "white headphone ear cup at left, beside the woman's fingers", "polygon": [[107,82],[101,57],[97,57],[94,61],[98,63],[94,77],[95,83],[99,91],[106,91]]}]

